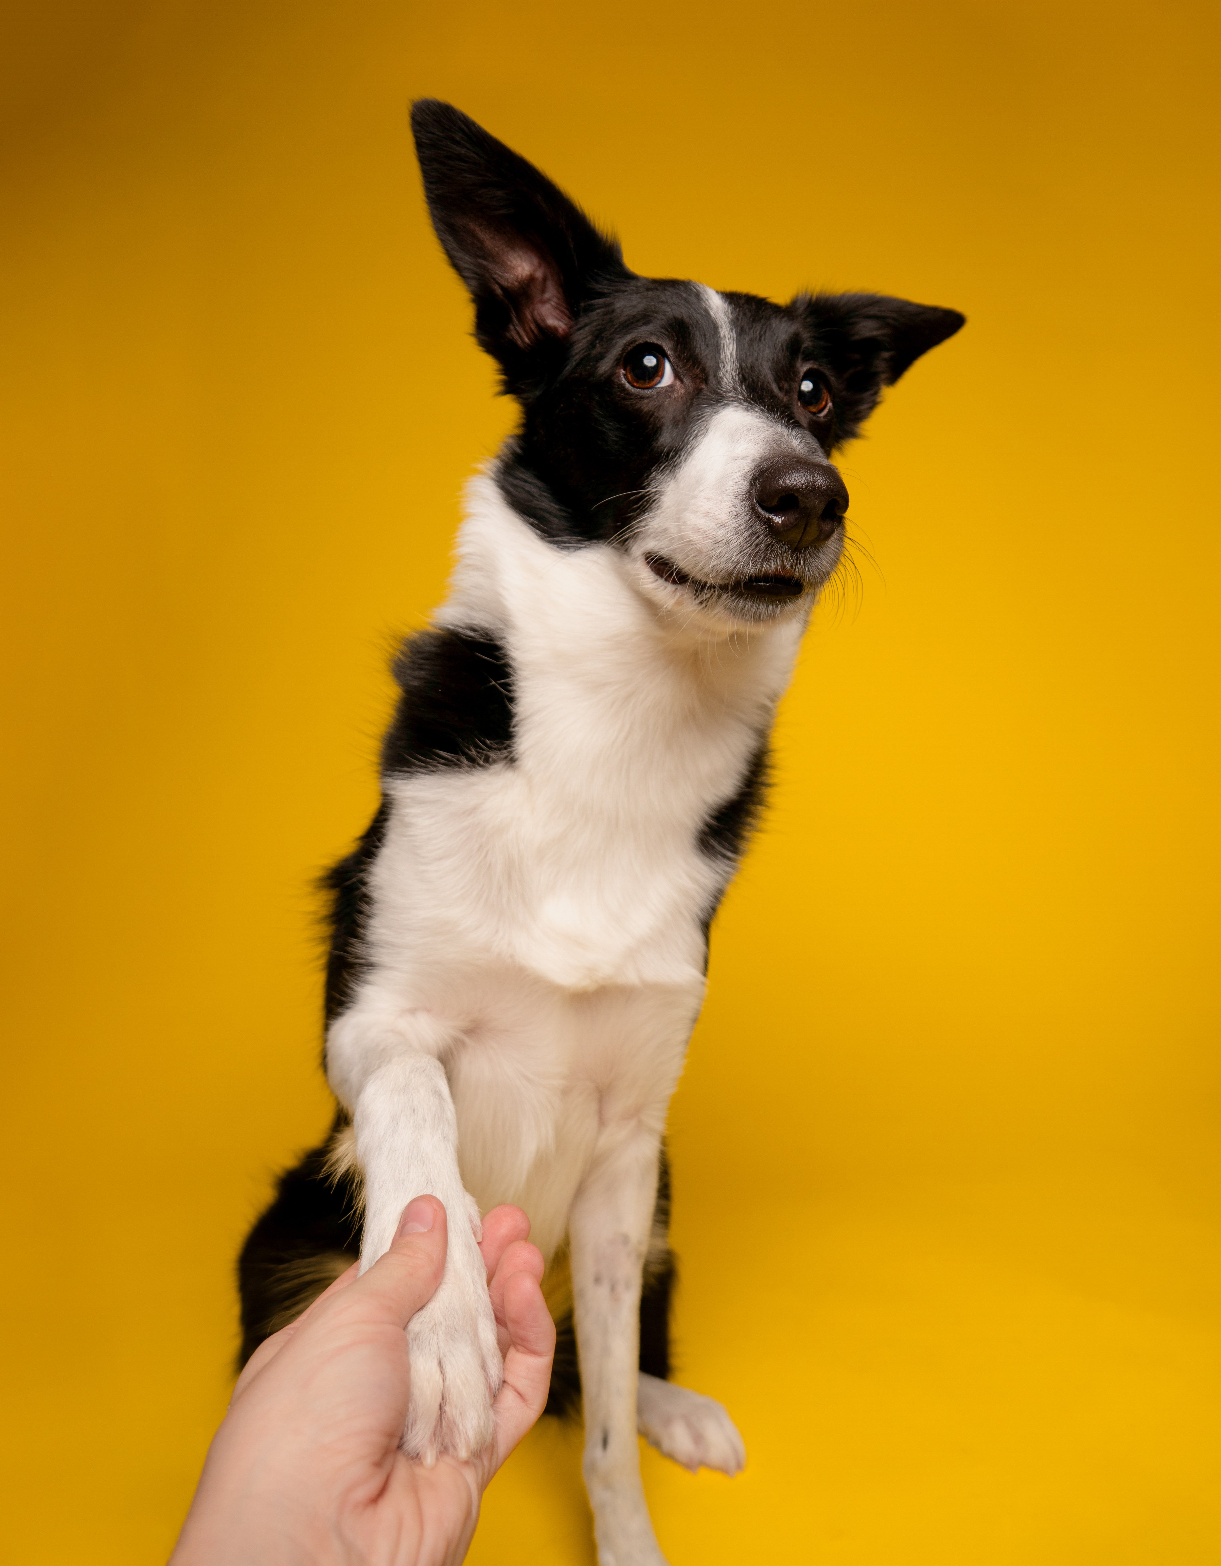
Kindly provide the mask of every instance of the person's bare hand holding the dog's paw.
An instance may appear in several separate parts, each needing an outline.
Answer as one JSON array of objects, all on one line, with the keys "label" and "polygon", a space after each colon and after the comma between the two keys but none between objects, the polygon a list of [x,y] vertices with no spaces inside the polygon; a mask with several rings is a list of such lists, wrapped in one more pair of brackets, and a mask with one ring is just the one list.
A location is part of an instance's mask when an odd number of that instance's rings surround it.
[{"label": "person's bare hand holding the dog's paw", "polygon": [[505,1355],[483,1452],[422,1467],[398,1449],[411,1384],[404,1328],[445,1270],[445,1207],[417,1196],[362,1278],[351,1267],[251,1356],[171,1566],[456,1566],[487,1481],[547,1402],[555,1326],[528,1232],[520,1207],[483,1220]]}]

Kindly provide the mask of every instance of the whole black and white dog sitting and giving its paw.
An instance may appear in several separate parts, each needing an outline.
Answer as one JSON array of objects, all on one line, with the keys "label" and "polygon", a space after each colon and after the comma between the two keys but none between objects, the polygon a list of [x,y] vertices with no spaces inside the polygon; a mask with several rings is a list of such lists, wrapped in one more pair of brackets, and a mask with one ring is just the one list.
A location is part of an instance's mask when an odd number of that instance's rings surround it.
[{"label": "whole black and white dog sitting and giving its paw", "polygon": [[431,1192],[450,1256],[408,1330],[403,1444],[476,1450],[500,1381],[480,1211],[520,1204],[599,1558],[655,1566],[636,1431],[690,1467],[745,1461],[719,1403],[666,1380],[661,1137],[708,922],[843,550],[829,454],[962,316],[638,277],[458,110],[417,103],[414,128],[522,423],[470,485],[450,594],[397,662],[381,808],[328,877],[339,1112],[246,1242],[245,1353]]}]

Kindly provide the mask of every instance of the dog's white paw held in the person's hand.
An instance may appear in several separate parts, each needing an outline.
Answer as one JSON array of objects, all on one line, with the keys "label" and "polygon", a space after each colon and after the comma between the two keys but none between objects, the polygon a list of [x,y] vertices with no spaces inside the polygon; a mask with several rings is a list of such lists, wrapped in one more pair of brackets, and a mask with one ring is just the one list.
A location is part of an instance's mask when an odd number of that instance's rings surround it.
[{"label": "dog's white paw held in the person's hand", "polygon": [[483,1256],[472,1231],[459,1223],[450,1228],[440,1287],[408,1322],[408,1351],[411,1402],[403,1450],[426,1467],[442,1452],[473,1456],[492,1439],[492,1398],[505,1366]]}]

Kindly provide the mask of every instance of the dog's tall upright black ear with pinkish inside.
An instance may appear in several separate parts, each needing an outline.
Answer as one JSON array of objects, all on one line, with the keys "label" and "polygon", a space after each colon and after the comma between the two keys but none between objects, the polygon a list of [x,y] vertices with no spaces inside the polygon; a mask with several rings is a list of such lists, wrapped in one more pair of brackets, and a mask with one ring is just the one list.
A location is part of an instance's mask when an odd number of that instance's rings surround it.
[{"label": "dog's tall upright black ear with pinkish inside", "polygon": [[475,335],[516,390],[589,294],[630,272],[614,240],[461,110],[420,99],[411,127],[433,227],[475,301]]}]

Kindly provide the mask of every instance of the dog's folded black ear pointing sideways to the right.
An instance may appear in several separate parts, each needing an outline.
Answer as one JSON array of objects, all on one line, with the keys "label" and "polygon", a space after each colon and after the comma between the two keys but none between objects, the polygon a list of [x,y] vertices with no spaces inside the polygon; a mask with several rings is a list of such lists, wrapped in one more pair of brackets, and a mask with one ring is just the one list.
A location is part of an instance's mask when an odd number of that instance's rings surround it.
[{"label": "dog's folded black ear pointing sideways to the right", "polygon": [[799,294],[792,309],[804,318],[818,362],[837,382],[837,442],[860,429],[882,387],[893,385],[920,354],[967,321],[958,310],[886,294]]}]

